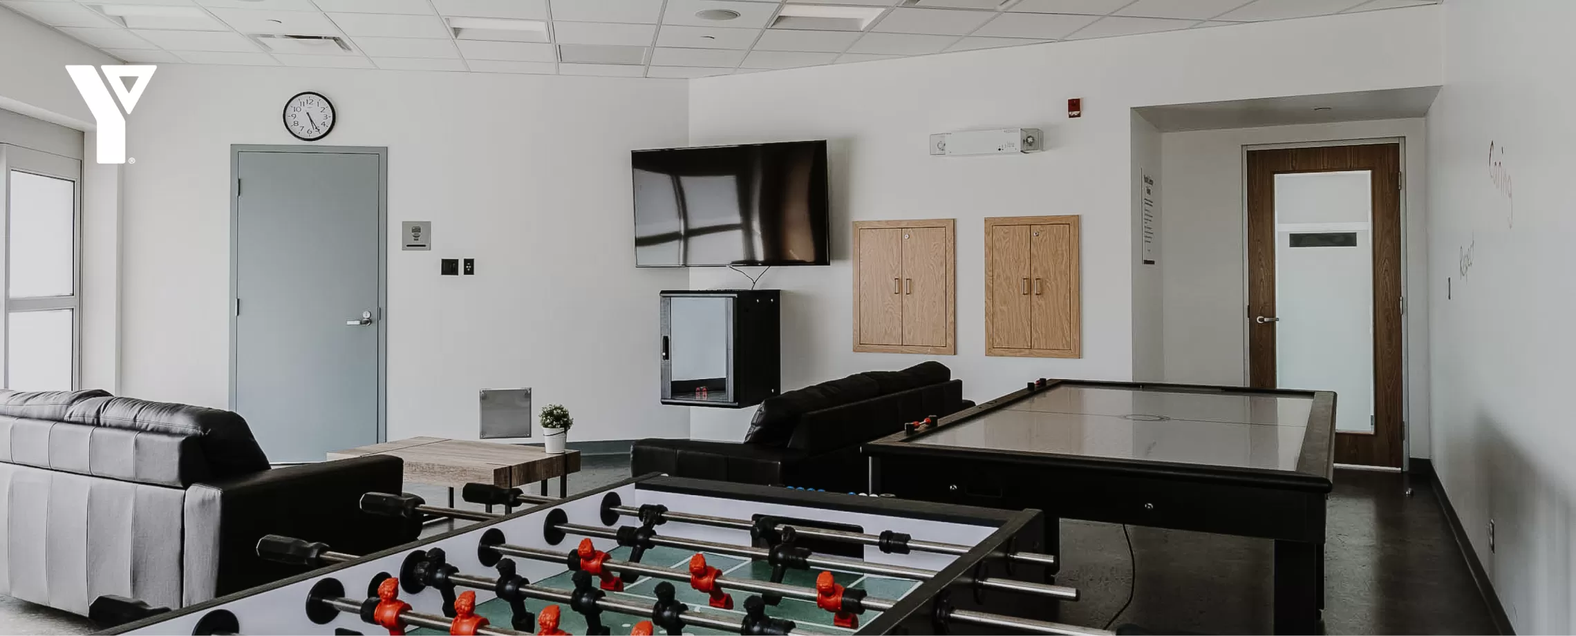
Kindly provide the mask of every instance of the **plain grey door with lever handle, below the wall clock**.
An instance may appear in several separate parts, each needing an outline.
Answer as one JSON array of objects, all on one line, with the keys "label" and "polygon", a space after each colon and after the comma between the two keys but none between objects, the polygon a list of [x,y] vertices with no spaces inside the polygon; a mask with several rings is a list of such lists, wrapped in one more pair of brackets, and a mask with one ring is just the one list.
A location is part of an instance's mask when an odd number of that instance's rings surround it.
[{"label": "plain grey door with lever handle, below the wall clock", "polygon": [[381,161],[236,153],[230,395],[269,461],[378,441]]}]

